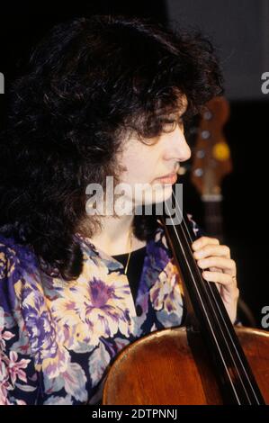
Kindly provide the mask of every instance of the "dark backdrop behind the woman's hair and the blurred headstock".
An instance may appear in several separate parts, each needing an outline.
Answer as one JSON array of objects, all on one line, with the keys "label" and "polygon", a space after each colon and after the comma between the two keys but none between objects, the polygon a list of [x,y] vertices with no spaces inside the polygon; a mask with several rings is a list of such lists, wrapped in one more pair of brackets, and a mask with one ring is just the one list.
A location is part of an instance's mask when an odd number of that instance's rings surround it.
[{"label": "dark backdrop behind the woman's hair and the blurred headstock", "polygon": [[[260,327],[269,305],[267,275],[267,142],[269,94],[262,94],[261,75],[269,72],[268,0],[87,1],[59,5],[10,1],[1,14],[0,71],[5,93],[20,75],[31,48],[54,24],[76,16],[129,14],[151,16],[167,25],[200,27],[216,45],[224,69],[230,118],[224,130],[233,173],[222,184],[225,243],[238,263],[241,297]],[[0,128],[6,121],[6,97],[0,95]],[[193,217],[202,225],[202,203],[190,198]],[[240,311],[246,324],[247,316]]]}]

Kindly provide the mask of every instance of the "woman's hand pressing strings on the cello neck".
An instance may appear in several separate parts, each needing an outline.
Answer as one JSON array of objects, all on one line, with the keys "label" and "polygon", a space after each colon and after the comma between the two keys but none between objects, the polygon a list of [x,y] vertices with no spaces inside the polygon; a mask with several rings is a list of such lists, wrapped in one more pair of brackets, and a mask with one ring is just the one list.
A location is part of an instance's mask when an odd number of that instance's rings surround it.
[{"label": "woman's hand pressing strings on the cello neck", "polygon": [[215,282],[232,323],[237,318],[238,284],[236,262],[230,258],[229,247],[220,245],[217,238],[201,237],[193,242],[193,257],[202,269],[202,277]]}]

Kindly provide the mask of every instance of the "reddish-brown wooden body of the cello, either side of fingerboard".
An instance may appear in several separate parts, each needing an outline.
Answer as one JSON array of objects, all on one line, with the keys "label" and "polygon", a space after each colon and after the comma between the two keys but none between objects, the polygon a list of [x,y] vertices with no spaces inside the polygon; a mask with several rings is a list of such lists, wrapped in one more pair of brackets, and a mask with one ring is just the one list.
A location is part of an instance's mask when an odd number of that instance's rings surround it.
[{"label": "reddish-brown wooden body of the cello, either side of fingerboard", "polygon": [[[238,327],[236,333],[269,404],[269,333],[244,327]],[[185,327],[159,330],[124,347],[107,374],[103,404],[226,403],[200,335],[194,333],[195,337],[197,356],[189,347]]]}]

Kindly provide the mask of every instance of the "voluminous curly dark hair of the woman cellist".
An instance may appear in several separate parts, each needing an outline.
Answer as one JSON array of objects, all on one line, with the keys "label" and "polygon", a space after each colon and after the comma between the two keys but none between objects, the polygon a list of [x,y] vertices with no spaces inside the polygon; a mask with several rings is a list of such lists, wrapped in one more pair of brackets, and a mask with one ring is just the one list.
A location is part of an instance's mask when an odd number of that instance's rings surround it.
[{"label": "voluminous curly dark hair of the woman cellist", "polygon": [[[31,246],[45,272],[77,278],[83,256],[74,234],[85,217],[92,234],[98,224],[86,215],[87,184],[119,178],[115,155],[126,134],[156,140],[160,116],[175,111],[182,94],[187,119],[222,92],[219,60],[199,31],[122,15],[59,23],[10,87],[0,233]],[[135,217],[138,238],[154,228],[148,216]]]}]

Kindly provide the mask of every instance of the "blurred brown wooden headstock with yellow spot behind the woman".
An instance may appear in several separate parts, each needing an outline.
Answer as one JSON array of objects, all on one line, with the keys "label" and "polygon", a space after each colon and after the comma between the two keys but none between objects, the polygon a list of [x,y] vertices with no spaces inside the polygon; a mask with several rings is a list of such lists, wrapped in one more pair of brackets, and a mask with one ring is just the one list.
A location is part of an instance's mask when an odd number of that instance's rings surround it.
[{"label": "blurred brown wooden headstock with yellow spot behind the woman", "polygon": [[220,96],[206,104],[193,148],[191,181],[204,204],[204,229],[223,239],[221,183],[232,171],[232,162],[223,126],[229,118],[229,103]]}]

